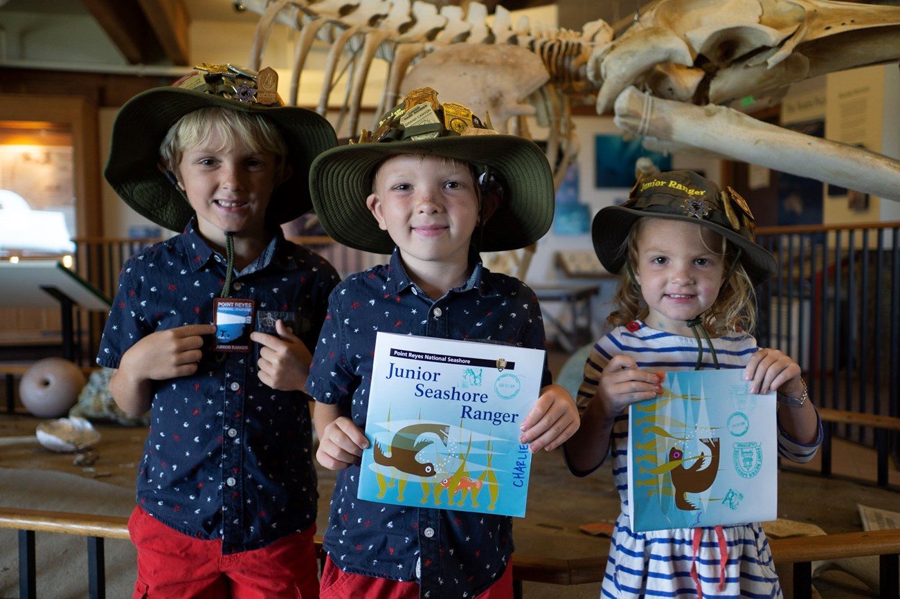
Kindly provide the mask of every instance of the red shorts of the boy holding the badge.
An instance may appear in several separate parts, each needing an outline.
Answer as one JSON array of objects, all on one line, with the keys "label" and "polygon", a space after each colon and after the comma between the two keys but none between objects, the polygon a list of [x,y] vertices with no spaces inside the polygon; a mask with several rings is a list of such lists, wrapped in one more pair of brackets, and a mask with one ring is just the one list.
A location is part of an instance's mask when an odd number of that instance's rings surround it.
[{"label": "red shorts of the boy holding the badge", "polygon": [[222,555],[222,543],[177,532],[140,507],[128,521],[138,549],[133,599],[318,599],[313,524],[258,550]]}]

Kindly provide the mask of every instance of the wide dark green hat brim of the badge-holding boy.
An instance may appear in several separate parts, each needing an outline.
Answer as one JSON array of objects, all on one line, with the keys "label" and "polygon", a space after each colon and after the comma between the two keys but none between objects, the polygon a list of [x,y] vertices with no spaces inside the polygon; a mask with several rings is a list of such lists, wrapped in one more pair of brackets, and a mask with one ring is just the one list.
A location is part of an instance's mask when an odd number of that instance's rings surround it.
[{"label": "wide dark green hat brim of the badge-holding boy", "polygon": [[159,169],[159,144],[188,112],[228,108],[263,114],[281,131],[292,175],[279,185],[266,210],[266,222],[279,225],[311,210],[309,172],[313,159],[338,145],[329,121],[297,106],[260,106],[177,87],[157,87],[125,103],[112,126],[106,180],[132,209],[162,227],[181,232],[193,208]]}]

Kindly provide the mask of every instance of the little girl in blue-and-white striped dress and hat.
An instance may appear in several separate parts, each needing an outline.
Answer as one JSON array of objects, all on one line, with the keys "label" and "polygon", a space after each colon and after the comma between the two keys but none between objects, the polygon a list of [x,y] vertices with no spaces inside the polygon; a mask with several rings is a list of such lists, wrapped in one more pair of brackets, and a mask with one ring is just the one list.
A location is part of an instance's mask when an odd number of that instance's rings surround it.
[{"label": "little girl in blue-and-white striped dress and hat", "polygon": [[586,476],[612,450],[622,513],[604,596],[687,596],[692,587],[690,596],[781,596],[760,523],[634,532],[628,515],[628,410],[661,392],[659,371],[743,370],[751,393],[778,392],[781,457],[812,460],[822,443],[800,366],[779,350],[757,347],[750,333],[753,290],[776,273],[753,227],[737,192],[691,171],[643,178],[628,201],[594,217],[594,249],[619,275],[608,318],[615,328],[584,365],[581,428],[564,451],[572,472]]}]

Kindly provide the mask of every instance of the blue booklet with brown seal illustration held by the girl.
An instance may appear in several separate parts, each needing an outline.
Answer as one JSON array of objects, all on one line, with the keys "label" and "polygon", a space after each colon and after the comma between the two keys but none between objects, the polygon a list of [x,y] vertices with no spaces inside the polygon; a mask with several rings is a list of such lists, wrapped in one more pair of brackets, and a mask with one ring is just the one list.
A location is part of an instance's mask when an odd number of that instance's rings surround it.
[{"label": "blue booklet with brown seal illustration held by the girl", "polygon": [[775,520],[775,392],[750,393],[743,369],[660,376],[662,394],[629,411],[632,530]]}]

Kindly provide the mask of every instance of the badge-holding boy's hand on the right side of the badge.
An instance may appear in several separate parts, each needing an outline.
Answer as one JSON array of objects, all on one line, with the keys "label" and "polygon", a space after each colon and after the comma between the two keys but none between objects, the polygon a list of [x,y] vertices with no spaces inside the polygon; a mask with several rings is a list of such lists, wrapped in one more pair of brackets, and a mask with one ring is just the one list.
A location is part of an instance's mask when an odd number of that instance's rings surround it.
[{"label": "badge-holding boy's hand on the right side of the badge", "polygon": [[257,362],[259,380],[272,389],[302,390],[310,374],[310,350],[291,329],[284,326],[281,318],[275,321],[275,333],[277,335],[258,331],[250,334],[250,339],[260,344]]}]

